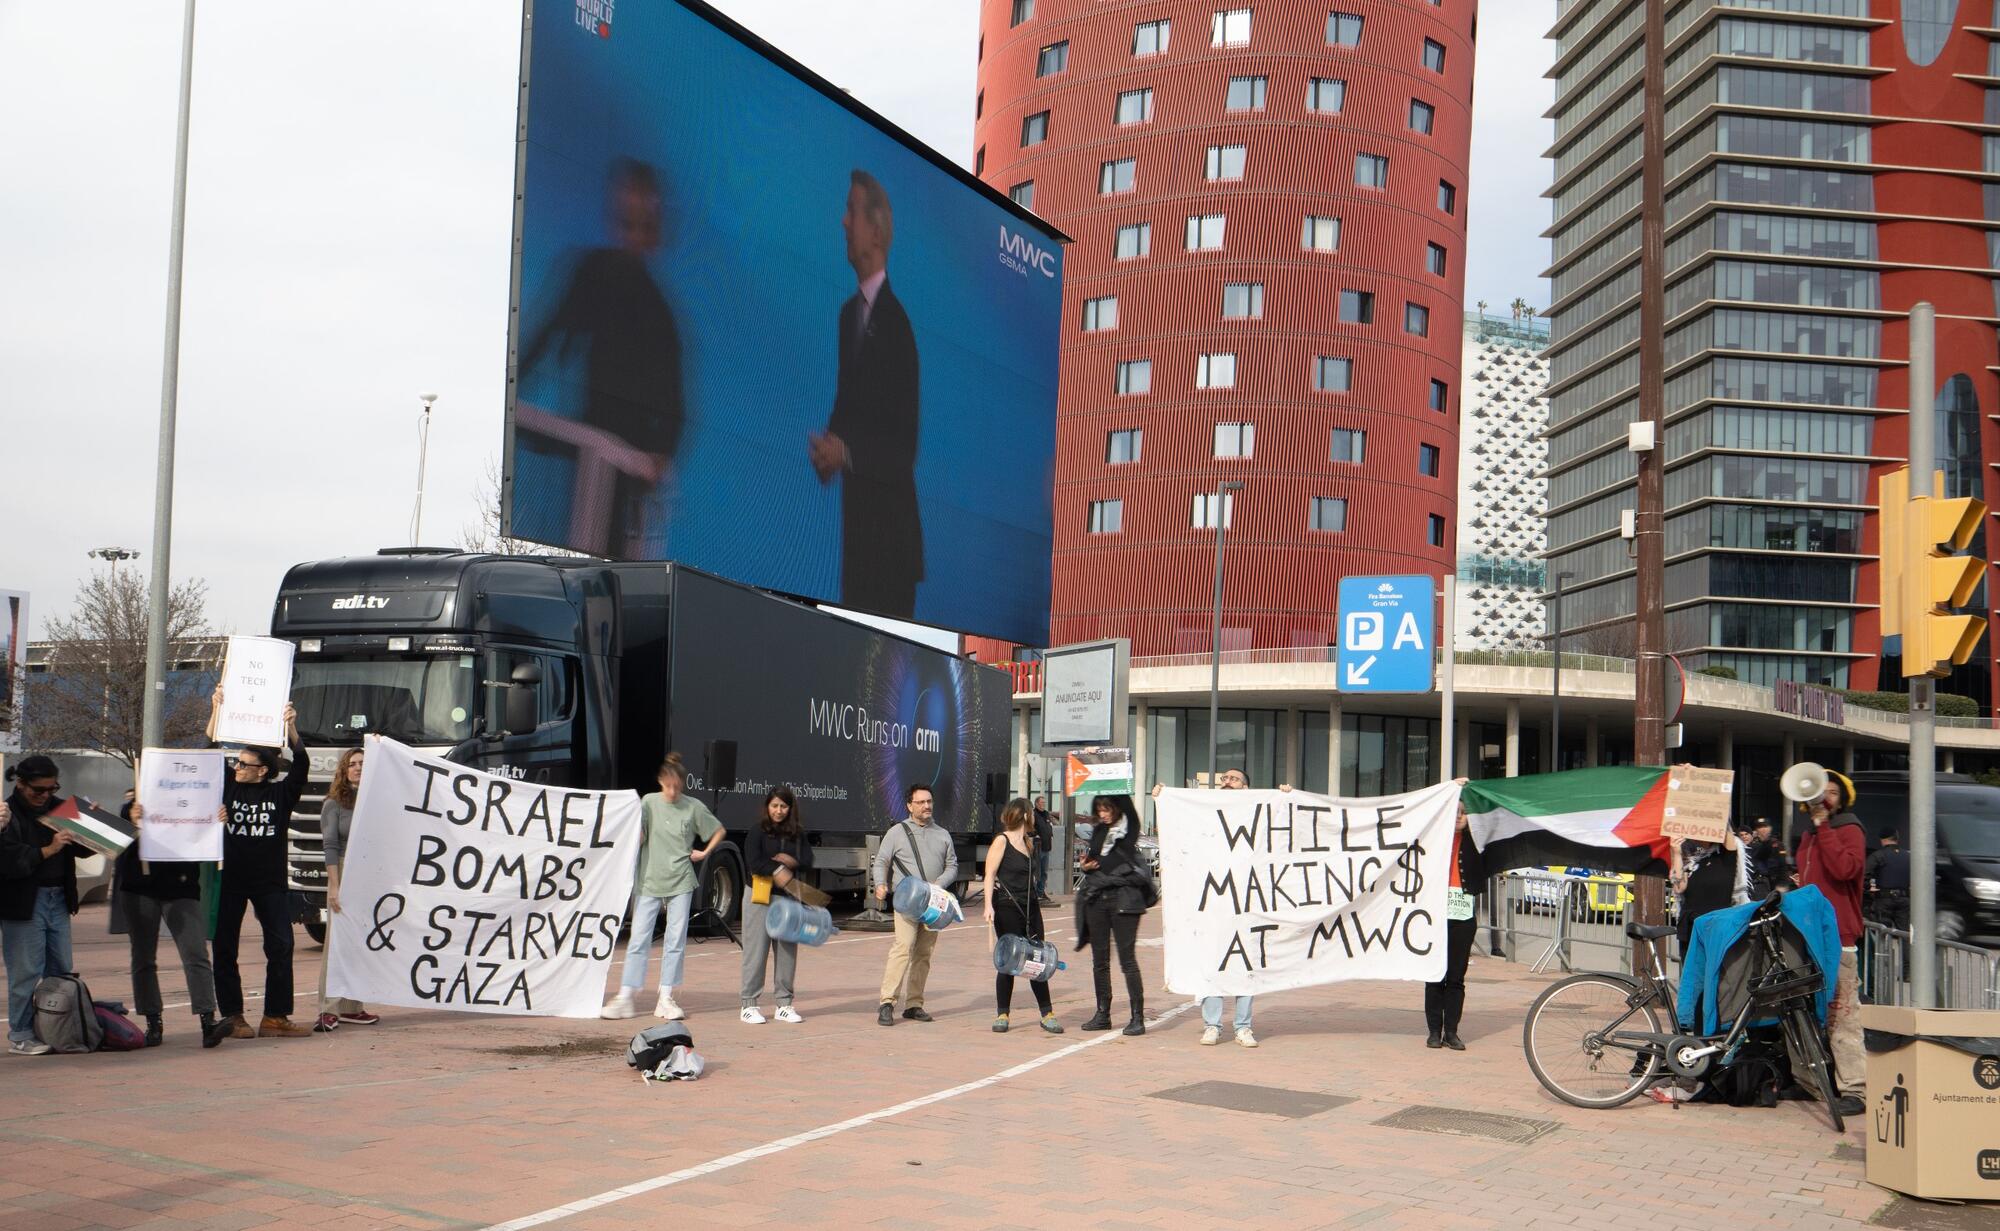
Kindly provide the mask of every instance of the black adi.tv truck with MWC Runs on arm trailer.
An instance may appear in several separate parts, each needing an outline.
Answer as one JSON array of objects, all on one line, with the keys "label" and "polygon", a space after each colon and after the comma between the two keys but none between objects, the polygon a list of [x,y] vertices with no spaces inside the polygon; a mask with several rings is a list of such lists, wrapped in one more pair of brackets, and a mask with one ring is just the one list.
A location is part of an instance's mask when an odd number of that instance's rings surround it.
[{"label": "black adi.tv truck with MWC Runs on arm trailer", "polygon": [[1006,783],[1004,671],[678,564],[384,550],[292,568],[270,627],[296,645],[312,755],[290,853],[314,939],[320,801],[340,751],[370,733],[488,773],[640,793],[678,749],[688,789],[730,829],[696,909],[732,921],[738,841],[768,787],[798,793],[820,887],[858,893],[908,783],[936,793],[964,875]]}]

